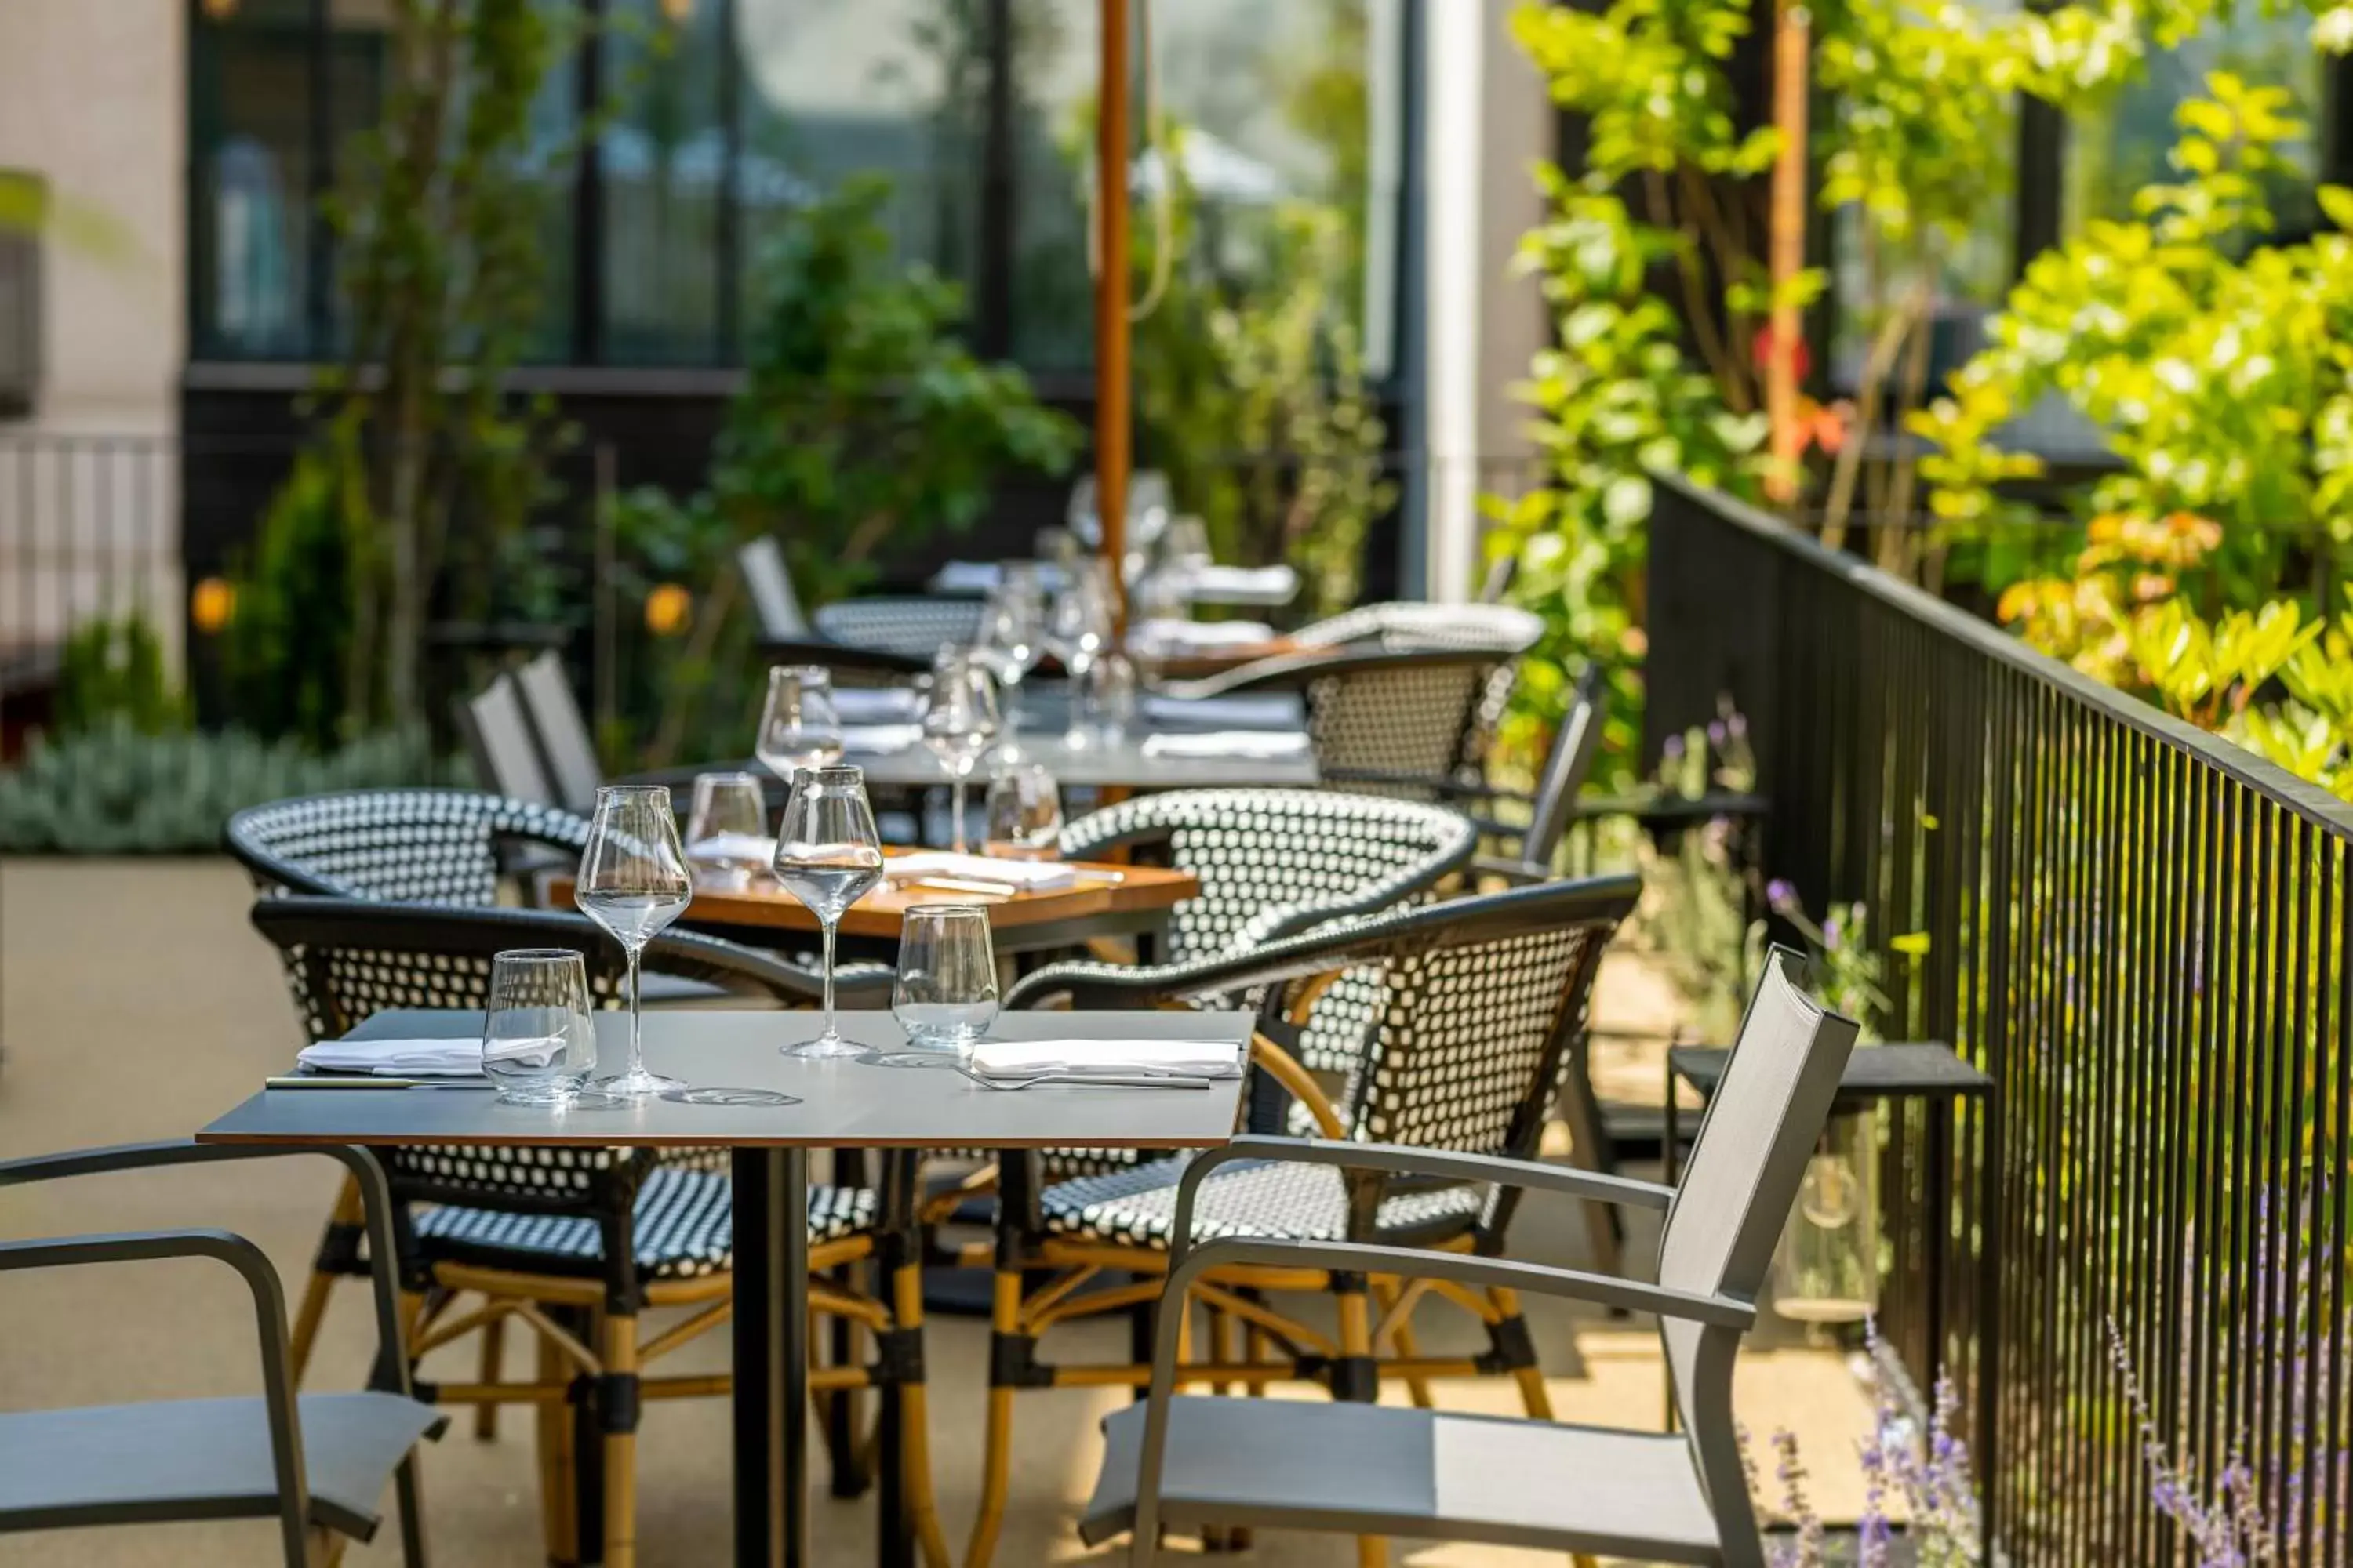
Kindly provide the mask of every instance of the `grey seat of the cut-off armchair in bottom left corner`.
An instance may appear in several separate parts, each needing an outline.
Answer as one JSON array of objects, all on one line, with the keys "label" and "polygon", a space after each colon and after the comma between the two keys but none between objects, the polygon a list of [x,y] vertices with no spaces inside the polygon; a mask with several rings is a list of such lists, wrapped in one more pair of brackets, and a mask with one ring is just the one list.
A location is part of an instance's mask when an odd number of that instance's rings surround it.
[{"label": "grey seat of the cut-off armchair in bottom left corner", "polygon": [[[440,1436],[447,1413],[398,1394],[304,1394],[299,1422],[311,1523],[369,1540],[400,1458]],[[259,1399],[0,1415],[0,1533],[275,1514]]]}]

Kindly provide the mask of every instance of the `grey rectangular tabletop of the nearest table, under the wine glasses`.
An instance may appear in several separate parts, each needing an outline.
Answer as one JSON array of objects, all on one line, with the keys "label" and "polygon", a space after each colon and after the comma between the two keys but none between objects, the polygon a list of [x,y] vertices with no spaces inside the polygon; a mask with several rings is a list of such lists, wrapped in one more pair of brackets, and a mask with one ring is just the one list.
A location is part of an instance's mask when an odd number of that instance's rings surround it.
[{"label": "grey rectangular tabletop of the nearest table, under the wine glasses", "polygon": [[[626,1013],[598,1013],[598,1056],[626,1051]],[[842,1013],[842,1034],[906,1046],[889,1013]],[[376,1013],[367,1039],[459,1039],[480,1011]],[[960,1072],[807,1060],[779,1046],[816,1032],[814,1013],[675,1011],[645,1016],[645,1060],[696,1086],[772,1088],[800,1105],[621,1110],[499,1105],[480,1088],[264,1088],[198,1143],[539,1143],[809,1147],[1202,1147],[1233,1138],[1242,1081],[1200,1088],[984,1088]],[[1242,1046],[1249,1013],[1005,1013],[991,1039],[1200,1039]]]}]

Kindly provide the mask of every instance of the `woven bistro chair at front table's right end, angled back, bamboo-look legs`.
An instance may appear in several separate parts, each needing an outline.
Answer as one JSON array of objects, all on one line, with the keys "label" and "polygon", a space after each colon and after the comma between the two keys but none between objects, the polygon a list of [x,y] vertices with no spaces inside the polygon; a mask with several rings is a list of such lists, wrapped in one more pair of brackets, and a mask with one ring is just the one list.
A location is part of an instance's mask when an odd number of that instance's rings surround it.
[{"label": "woven bistro chair at front table's right end, angled back, bamboo-look legs", "polygon": [[[1485,898],[1459,898],[1400,914],[1322,926],[1254,950],[1188,964],[1181,973],[1139,971],[1120,992],[1127,1006],[1254,999],[1261,1020],[1315,1006],[1327,976],[1369,969],[1379,1006],[1367,1020],[1360,1070],[1329,1100],[1264,1027],[1252,1039],[1252,1072],[1306,1103],[1325,1138],[1414,1145],[1464,1154],[1534,1159],[1544,1107],[1562,1053],[1579,1048],[1586,999],[1602,945],[1633,910],[1631,877],[1553,882]],[[998,1349],[988,1375],[988,1467],[969,1568],[995,1549],[1012,1465],[1014,1394],[1026,1387],[1144,1387],[1148,1366],[1056,1366],[1038,1340],[1056,1324],[1127,1312],[1160,1300],[1169,1267],[1172,1218],[1186,1159],[1158,1159],[1099,1175],[1047,1182],[1019,1152],[1000,1157],[998,1269],[991,1328]],[[1480,1182],[1344,1182],[1337,1171],[1231,1164],[1200,1190],[1207,1234],[1292,1241],[1393,1244],[1494,1258],[1513,1194]],[[1412,1253],[1407,1253],[1412,1255]],[[1106,1272],[1139,1284],[1094,1286]],[[1478,1316],[1487,1356],[1419,1356],[1409,1326],[1419,1291],[1400,1291],[1405,1269],[1322,1269],[1313,1262],[1233,1267],[1193,1281],[1209,1309],[1205,1359],[1188,1380],[1240,1385],[1325,1382],[1337,1399],[1369,1401],[1384,1375],[1400,1378],[1417,1403],[1431,1378],[1508,1373],[1529,1415],[1548,1418],[1527,1324],[1506,1281],[1440,1293]],[[1369,1276],[1369,1279],[1367,1279]],[[1282,1295],[1337,1300],[1339,1335],[1282,1312]],[[1367,1295],[1369,1293],[1369,1295]],[[1379,1326],[1372,1309],[1379,1307]],[[1235,1347],[1235,1326],[1242,1345]]]}]

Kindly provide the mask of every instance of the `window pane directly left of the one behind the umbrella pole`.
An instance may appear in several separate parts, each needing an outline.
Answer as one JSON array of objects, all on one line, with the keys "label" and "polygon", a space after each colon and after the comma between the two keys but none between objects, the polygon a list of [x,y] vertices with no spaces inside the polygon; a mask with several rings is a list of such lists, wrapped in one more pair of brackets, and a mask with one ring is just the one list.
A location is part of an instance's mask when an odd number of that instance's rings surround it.
[{"label": "window pane directly left of the one behind the umbrella pole", "polygon": [[859,174],[892,186],[899,256],[962,282],[972,303],[986,16],[981,0],[736,0],[746,320],[779,223]]}]

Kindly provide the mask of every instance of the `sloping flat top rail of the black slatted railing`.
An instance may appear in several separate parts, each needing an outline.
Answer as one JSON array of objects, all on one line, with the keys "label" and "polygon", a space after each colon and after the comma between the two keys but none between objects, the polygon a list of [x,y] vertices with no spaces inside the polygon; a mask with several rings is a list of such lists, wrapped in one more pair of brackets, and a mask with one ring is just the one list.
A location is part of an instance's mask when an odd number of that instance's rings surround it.
[{"label": "sloping flat top rail of the black slatted railing", "polygon": [[2186,719],[2144,703],[2129,691],[2118,691],[2106,682],[2097,682],[2082,670],[2052,658],[2026,642],[2012,637],[2009,632],[1979,621],[1969,611],[1946,604],[1937,595],[1913,588],[1911,583],[1894,578],[1878,567],[1847,555],[1845,550],[1833,550],[1821,541],[1802,534],[1772,512],[1765,512],[1746,501],[1737,501],[1715,489],[1692,484],[1682,475],[1657,473],[1652,484],[1675,491],[1685,501],[1708,510],[1718,522],[1732,524],[1744,534],[1774,545],[1784,555],[1812,567],[1814,571],[1828,574],[1840,583],[1864,592],[1889,609],[1904,611],[1913,621],[1920,621],[1937,632],[1962,642],[1965,646],[1993,658],[1998,663],[2031,675],[2049,686],[2057,686],[2068,698],[2115,719],[2139,729],[2141,733],[2191,752],[2200,762],[2219,769],[2221,773],[2235,778],[2249,790],[2259,790],[2268,799],[2287,806],[2297,816],[2306,818],[2315,827],[2322,827],[2341,839],[2353,842],[2353,806],[2337,799],[2320,785],[2297,778],[2287,769],[2266,757],[2249,752],[2242,745],[2224,741],[2221,736],[2198,729]]}]

